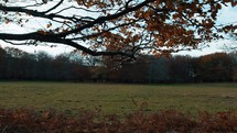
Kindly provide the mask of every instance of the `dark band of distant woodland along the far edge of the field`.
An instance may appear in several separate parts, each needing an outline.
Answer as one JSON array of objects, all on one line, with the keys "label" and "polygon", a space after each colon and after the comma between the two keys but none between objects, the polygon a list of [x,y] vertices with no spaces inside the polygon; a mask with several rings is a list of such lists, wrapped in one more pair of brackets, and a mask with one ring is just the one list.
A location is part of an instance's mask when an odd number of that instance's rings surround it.
[{"label": "dark band of distant woodland along the far edge of the field", "polygon": [[201,57],[146,56],[115,67],[108,57],[44,52],[29,54],[0,47],[0,80],[105,82],[220,82],[237,81],[237,52]]}]

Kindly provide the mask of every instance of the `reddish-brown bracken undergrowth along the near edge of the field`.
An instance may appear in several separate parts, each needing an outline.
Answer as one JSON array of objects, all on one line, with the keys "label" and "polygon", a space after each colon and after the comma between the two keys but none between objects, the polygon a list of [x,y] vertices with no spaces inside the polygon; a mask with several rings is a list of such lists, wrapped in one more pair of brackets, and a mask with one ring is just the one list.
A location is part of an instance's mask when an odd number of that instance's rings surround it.
[{"label": "reddish-brown bracken undergrowth along the near edge of the field", "polygon": [[0,109],[1,133],[236,133],[237,112],[201,112],[197,118],[175,110],[120,118],[100,110],[68,117],[54,110]]}]

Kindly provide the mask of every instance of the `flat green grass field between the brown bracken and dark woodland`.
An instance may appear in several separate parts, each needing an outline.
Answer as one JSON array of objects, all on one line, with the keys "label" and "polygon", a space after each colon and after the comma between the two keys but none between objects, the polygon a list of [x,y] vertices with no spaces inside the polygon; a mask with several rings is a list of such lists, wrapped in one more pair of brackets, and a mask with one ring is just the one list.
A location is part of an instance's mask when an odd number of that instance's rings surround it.
[{"label": "flat green grass field between the brown bracken and dark woodland", "polygon": [[0,82],[0,107],[56,109],[101,108],[105,113],[129,113],[146,104],[146,112],[218,112],[237,110],[237,84],[112,85],[72,82]]}]

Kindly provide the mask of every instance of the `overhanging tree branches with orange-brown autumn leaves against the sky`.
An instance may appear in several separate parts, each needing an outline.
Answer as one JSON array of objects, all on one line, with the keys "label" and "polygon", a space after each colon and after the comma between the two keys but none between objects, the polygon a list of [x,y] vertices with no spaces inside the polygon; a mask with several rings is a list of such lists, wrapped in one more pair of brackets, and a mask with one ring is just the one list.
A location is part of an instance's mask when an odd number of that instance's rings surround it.
[{"label": "overhanging tree branches with orange-brown autumn leaves against the sky", "polygon": [[[219,37],[217,31],[222,27],[215,24],[217,12],[229,4],[236,7],[237,1],[2,0],[2,23],[19,24],[29,32],[1,31],[0,40],[15,45],[64,44],[93,56],[122,56],[126,60],[144,52],[160,55],[195,48]],[[31,20],[42,23],[33,23],[34,27],[29,29]]]}]

